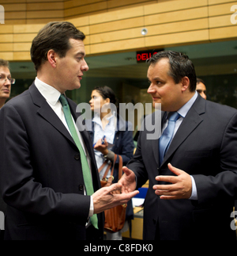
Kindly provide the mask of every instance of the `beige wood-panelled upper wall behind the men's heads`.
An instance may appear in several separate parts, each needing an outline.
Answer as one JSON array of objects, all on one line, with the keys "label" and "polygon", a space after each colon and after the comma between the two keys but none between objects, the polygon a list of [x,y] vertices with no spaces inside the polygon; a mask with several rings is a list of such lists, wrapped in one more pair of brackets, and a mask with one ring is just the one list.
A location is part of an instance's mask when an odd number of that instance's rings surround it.
[{"label": "beige wood-panelled upper wall behind the men's heads", "polygon": [[[233,0],[6,2],[9,1],[0,0],[7,7],[6,24],[0,25],[0,58],[14,61],[30,60],[32,39],[44,24],[55,20],[71,21],[85,32],[87,55],[237,39],[237,25],[231,24],[231,6],[236,4]],[[87,14],[88,9],[78,7],[78,2],[94,6],[89,10],[100,13]],[[136,4],[131,7],[133,2]],[[107,6],[101,10],[96,7],[105,3]],[[10,24],[9,10],[16,10],[15,17],[26,19]],[[74,17],[79,10],[84,13]],[[146,36],[141,35],[142,28],[148,29]]]}]

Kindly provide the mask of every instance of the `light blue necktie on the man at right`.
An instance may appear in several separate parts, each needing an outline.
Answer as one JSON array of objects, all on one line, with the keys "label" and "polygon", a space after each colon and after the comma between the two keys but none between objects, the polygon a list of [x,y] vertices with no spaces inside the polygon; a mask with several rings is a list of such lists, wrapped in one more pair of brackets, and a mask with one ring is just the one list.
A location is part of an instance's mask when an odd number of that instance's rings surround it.
[{"label": "light blue necktie on the man at right", "polygon": [[175,122],[179,118],[179,113],[171,112],[168,115],[168,124],[167,128],[164,129],[162,136],[159,139],[159,156],[160,156],[160,164],[164,160],[164,155],[170,146],[171,139],[175,130]]}]

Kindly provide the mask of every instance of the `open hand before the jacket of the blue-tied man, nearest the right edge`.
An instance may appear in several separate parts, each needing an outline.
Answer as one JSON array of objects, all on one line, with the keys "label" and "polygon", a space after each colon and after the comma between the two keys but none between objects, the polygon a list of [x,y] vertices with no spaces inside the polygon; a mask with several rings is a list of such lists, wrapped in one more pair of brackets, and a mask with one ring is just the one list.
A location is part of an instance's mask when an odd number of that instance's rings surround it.
[{"label": "open hand before the jacket of the blue-tied man, nearest the right edge", "polygon": [[192,193],[192,180],[189,174],[183,170],[179,170],[171,163],[168,164],[169,170],[177,176],[157,176],[156,181],[166,181],[172,184],[153,185],[156,195],[160,199],[188,199]]}]

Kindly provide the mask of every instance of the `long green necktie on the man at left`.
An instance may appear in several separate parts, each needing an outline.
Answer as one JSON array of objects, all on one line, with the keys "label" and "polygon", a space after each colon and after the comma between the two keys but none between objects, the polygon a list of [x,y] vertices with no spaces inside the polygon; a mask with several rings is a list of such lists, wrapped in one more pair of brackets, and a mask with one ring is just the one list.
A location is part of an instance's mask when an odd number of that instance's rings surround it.
[{"label": "long green necktie on the man at left", "polygon": [[[85,151],[81,147],[80,139],[77,136],[77,131],[76,131],[75,125],[73,123],[73,118],[72,118],[71,112],[70,112],[70,106],[68,105],[66,97],[63,94],[59,97],[59,101],[62,104],[63,113],[66,118],[66,124],[68,125],[68,127],[70,129],[71,136],[73,137],[73,140],[76,143],[78,150],[80,151],[81,168],[82,168],[82,172],[83,172],[83,178],[85,181],[86,193],[88,194],[88,196],[91,196],[94,193],[94,189],[93,189],[93,185],[92,185],[91,171],[88,166],[88,162],[87,162],[87,159],[85,156]],[[96,214],[94,214],[92,217],[90,217],[90,221],[91,221],[92,225],[98,229],[98,219],[97,219]]]}]

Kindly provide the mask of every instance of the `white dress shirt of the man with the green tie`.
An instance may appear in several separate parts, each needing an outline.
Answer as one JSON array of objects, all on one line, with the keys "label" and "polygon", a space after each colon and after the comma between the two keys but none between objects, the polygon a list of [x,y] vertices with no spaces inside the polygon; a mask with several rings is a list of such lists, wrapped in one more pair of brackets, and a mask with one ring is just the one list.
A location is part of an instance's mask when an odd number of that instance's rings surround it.
[{"label": "white dress shirt of the man with the green tie", "polygon": [[[42,94],[42,96],[46,99],[48,105],[51,106],[51,108],[55,111],[55,113],[57,114],[59,119],[62,120],[62,124],[64,124],[66,129],[68,130],[68,132],[70,132],[70,129],[66,124],[66,119],[65,119],[65,116],[64,116],[64,113],[63,113],[63,110],[62,110],[62,104],[59,101],[59,97],[61,96],[61,93],[58,90],[56,90],[53,86],[49,86],[45,82],[40,81],[39,78],[36,78],[35,85],[36,85],[36,88],[40,91],[40,94]],[[78,138],[80,139],[81,146],[82,146],[83,150],[85,151],[85,155],[86,155],[86,158],[87,158],[87,161],[88,161],[88,166],[91,170],[91,159],[88,155],[88,151],[86,150],[84,141],[81,137],[81,133],[78,131],[77,125],[75,124],[74,119],[73,119],[73,123],[75,125]],[[94,204],[93,204],[93,200],[92,200],[92,197],[91,197],[90,209],[89,209],[88,216],[89,217],[92,216],[93,212],[94,212]]]}]

